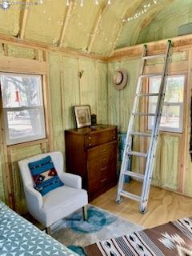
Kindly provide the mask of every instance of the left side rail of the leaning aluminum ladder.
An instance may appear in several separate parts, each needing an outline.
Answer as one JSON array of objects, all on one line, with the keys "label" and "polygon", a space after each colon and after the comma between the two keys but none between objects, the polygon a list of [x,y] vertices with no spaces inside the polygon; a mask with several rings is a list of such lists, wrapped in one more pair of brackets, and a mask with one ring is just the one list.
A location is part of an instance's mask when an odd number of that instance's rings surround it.
[{"label": "left side rail of the leaning aluminum ladder", "polygon": [[133,106],[133,110],[131,112],[130,122],[129,122],[128,129],[127,129],[126,146],[125,146],[125,149],[123,151],[122,166],[121,166],[121,170],[120,170],[119,178],[118,178],[118,191],[117,191],[117,196],[116,196],[116,202],[119,202],[120,199],[121,199],[121,190],[122,190],[122,186],[123,186],[123,183],[124,183],[124,180],[125,180],[123,172],[126,170],[126,166],[127,166],[128,161],[130,159],[130,157],[127,156],[127,152],[131,149],[131,145],[132,145],[133,136],[130,134],[130,132],[133,130],[133,126],[134,126],[135,116],[133,115],[133,113],[137,109],[137,106],[138,106],[139,98],[136,95],[139,94],[139,92],[141,90],[142,78],[140,78],[140,74],[143,73],[143,70],[144,70],[144,67],[145,67],[145,62],[146,62],[143,59],[143,57],[145,57],[146,54],[147,54],[146,45],[144,45],[143,47],[144,48],[143,48],[143,51],[142,51],[142,62],[141,62],[141,65],[140,65],[140,70],[139,70],[138,84],[137,84],[137,89],[136,89],[135,98],[134,98],[134,106]]}]

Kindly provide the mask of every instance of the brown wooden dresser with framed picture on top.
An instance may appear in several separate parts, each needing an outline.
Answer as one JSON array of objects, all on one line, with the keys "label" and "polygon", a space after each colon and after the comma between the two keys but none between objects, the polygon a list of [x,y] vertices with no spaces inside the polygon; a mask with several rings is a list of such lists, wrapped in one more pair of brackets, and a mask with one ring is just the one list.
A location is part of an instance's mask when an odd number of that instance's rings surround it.
[{"label": "brown wooden dresser with framed picture on top", "polygon": [[117,126],[65,130],[66,170],[82,177],[89,200],[117,183]]}]

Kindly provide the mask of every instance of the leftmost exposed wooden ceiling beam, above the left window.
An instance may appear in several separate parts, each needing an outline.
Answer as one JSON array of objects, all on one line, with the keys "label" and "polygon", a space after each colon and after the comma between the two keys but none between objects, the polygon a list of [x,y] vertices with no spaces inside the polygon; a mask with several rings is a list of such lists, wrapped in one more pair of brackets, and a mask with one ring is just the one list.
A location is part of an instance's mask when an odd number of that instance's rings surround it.
[{"label": "leftmost exposed wooden ceiling beam, above the left window", "polygon": [[18,38],[23,39],[26,31],[26,22],[29,13],[30,0],[22,1],[22,10],[20,13],[20,25],[19,25],[19,33]]}]

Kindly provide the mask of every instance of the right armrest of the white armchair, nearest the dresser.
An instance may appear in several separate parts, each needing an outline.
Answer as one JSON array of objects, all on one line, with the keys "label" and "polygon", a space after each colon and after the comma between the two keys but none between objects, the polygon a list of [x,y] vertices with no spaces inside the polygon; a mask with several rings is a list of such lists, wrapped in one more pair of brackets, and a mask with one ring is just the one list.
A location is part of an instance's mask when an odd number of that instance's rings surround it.
[{"label": "right armrest of the white armchair, nearest the dresser", "polygon": [[82,188],[82,178],[75,174],[62,173],[59,178],[66,186],[72,186],[76,189]]}]

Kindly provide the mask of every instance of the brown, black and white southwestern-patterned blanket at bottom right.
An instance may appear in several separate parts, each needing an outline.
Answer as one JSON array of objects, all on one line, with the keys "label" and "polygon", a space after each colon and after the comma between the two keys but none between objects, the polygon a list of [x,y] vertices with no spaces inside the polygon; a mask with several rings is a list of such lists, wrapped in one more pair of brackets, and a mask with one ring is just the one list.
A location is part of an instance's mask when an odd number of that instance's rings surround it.
[{"label": "brown, black and white southwestern-patterned blanket at bottom right", "polygon": [[192,256],[192,218],[95,243],[86,256]]}]

